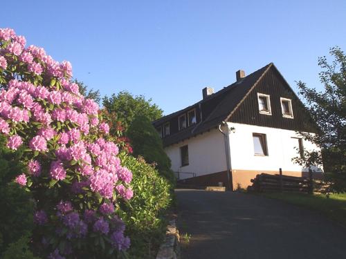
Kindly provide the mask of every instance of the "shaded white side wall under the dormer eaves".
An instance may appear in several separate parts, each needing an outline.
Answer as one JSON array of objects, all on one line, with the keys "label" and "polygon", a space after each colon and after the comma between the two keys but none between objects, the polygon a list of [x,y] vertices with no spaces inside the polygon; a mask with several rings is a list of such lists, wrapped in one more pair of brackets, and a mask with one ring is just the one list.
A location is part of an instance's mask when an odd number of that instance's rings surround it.
[{"label": "shaded white side wall under the dormer eaves", "polygon": [[[181,166],[180,147],[186,144],[189,150],[189,165]],[[218,129],[212,129],[210,132],[168,146],[165,152],[172,161],[174,172],[197,173],[199,176],[227,170],[224,135]],[[181,179],[190,177],[192,177],[190,174],[180,174]]]}]

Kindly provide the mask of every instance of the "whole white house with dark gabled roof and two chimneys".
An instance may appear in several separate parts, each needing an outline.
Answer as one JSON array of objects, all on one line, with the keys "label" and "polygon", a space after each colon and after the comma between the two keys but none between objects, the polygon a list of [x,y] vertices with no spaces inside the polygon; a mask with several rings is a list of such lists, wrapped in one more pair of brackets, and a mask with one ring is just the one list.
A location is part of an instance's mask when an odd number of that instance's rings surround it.
[{"label": "whole white house with dark gabled roof and two chimneys", "polygon": [[[307,175],[292,158],[318,149],[298,134],[316,132],[316,124],[284,77],[272,63],[236,76],[234,84],[217,93],[204,88],[200,102],[153,122],[179,181],[237,189],[280,168]],[[321,177],[321,169],[313,171]]]}]

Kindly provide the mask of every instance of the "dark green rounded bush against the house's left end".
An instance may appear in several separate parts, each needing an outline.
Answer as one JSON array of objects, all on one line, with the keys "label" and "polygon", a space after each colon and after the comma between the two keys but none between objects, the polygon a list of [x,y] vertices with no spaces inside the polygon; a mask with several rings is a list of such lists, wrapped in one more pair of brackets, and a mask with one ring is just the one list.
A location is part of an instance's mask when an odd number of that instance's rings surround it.
[{"label": "dark green rounded bush against the house's left end", "polygon": [[170,157],[163,150],[161,137],[152,122],[147,117],[136,116],[127,130],[127,135],[134,155],[140,155],[147,162],[156,164],[158,172],[172,182],[174,177],[170,170]]}]

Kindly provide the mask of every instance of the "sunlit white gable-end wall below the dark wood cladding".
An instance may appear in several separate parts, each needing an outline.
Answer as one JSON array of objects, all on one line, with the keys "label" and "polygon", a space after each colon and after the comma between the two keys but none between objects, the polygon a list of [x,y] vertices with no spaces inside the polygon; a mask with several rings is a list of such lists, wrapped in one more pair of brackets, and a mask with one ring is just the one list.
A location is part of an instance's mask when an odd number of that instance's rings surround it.
[{"label": "sunlit white gable-end wall below the dark wood cladding", "polygon": [[[267,128],[247,124],[228,123],[229,127],[235,128],[230,133],[230,155],[232,169],[242,170],[264,170],[264,171],[307,171],[291,159],[298,157],[295,145],[298,141],[292,137],[298,137],[295,131],[280,128]],[[253,133],[266,134],[268,156],[254,155]],[[304,148],[307,150],[318,150],[318,147],[303,140]],[[313,170],[320,171],[317,168]]]}]

